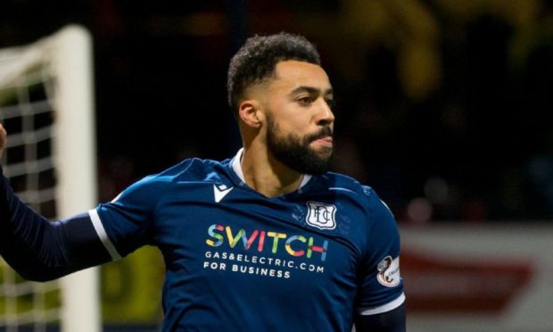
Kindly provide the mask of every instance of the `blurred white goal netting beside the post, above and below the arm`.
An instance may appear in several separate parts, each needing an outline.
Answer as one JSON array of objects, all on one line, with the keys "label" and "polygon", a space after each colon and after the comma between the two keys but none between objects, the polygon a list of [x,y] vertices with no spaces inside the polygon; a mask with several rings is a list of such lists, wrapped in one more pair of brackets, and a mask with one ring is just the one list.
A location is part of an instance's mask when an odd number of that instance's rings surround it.
[{"label": "blurred white goal netting beside the post, above and below the arm", "polygon": [[[20,56],[0,53],[0,121],[9,132],[2,164],[21,200],[54,219],[54,77],[48,63],[33,56],[36,50],[25,51]],[[3,260],[0,270],[0,324],[7,331],[45,331],[48,323],[60,319],[58,282],[24,281]]]}]

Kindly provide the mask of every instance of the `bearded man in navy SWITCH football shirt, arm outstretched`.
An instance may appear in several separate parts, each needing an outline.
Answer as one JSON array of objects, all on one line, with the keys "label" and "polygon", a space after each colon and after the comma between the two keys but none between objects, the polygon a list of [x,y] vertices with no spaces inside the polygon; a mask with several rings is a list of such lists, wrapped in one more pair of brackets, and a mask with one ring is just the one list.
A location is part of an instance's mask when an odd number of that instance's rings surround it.
[{"label": "bearded man in navy SWITCH football shirt, arm outstretched", "polygon": [[243,138],[234,158],[185,160],[54,223],[2,176],[4,259],[46,280],[157,245],[164,331],[404,331],[392,213],[370,187],[328,172],[334,96],[315,47],[252,37],[227,87]]}]

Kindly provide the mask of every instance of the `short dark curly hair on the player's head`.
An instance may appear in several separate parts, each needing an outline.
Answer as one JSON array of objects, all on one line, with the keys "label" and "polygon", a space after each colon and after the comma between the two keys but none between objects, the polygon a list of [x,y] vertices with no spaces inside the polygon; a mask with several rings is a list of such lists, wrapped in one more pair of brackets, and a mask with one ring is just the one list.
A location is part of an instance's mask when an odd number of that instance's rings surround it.
[{"label": "short dark curly hair on the player's head", "polygon": [[246,40],[228,68],[228,104],[235,116],[244,90],[268,79],[276,63],[288,60],[320,65],[317,48],[305,37],[280,32],[270,36],[255,35]]}]

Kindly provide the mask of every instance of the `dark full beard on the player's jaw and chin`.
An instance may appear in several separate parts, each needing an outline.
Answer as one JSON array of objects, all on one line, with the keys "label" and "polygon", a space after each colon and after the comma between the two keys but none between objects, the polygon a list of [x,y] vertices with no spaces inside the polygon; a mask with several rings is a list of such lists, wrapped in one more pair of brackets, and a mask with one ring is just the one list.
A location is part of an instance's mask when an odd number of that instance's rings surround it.
[{"label": "dark full beard on the player's jaw and chin", "polygon": [[333,149],[330,148],[329,152],[318,153],[310,147],[310,143],[318,138],[332,136],[332,129],[329,126],[325,126],[317,133],[305,137],[293,133],[281,137],[278,135],[280,130],[276,122],[269,114],[267,125],[268,151],[277,161],[304,174],[321,175],[330,169]]}]

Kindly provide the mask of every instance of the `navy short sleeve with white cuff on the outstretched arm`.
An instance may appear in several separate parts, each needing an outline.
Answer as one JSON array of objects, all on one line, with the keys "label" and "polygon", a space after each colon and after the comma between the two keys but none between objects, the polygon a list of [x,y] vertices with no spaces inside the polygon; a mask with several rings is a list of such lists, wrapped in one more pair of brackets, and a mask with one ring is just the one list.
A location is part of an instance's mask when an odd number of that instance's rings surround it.
[{"label": "navy short sleeve with white cuff on the outstretched arm", "polygon": [[113,259],[149,244],[156,205],[162,193],[159,178],[143,178],[110,203],[101,203],[89,212],[96,232]]}]

